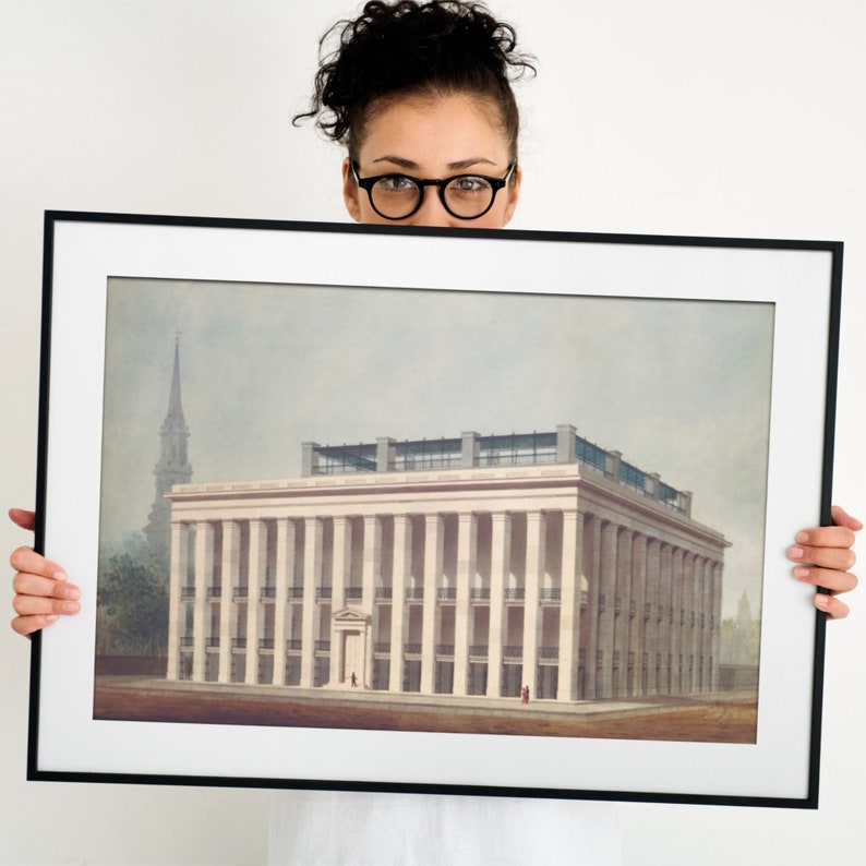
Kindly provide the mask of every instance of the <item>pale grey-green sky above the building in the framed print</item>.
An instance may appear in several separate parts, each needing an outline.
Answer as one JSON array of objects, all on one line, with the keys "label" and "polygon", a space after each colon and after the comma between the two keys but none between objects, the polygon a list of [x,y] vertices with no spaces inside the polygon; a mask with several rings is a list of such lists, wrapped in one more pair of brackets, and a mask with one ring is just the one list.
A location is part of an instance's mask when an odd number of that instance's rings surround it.
[{"label": "pale grey-green sky above the building in the framed print", "polygon": [[694,494],[725,615],[760,604],[771,304],[112,279],[103,541],[141,530],[180,332],[193,482],[300,474],[301,443],[578,434]]}]

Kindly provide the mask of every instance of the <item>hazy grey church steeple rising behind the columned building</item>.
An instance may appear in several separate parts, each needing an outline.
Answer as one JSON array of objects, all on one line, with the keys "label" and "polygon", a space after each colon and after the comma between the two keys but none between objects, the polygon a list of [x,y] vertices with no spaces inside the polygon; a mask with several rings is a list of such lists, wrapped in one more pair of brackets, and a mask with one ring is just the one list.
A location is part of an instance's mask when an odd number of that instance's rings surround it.
[{"label": "hazy grey church steeple rising behind the columned building", "polygon": [[192,479],[192,467],[187,453],[189,437],[190,431],[183,418],[183,405],[180,399],[180,334],[177,334],[168,413],[159,429],[159,462],[154,469],[156,495],[144,529],[151,546],[165,552],[166,555],[171,542],[171,506],[164,496],[175,484],[188,484]]}]

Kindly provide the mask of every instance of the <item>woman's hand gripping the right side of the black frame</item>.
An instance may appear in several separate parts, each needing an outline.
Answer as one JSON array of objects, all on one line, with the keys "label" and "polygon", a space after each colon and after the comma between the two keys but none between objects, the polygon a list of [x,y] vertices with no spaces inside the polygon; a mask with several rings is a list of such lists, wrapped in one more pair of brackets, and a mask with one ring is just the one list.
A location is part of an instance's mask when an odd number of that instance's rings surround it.
[{"label": "woman's hand gripping the right side of the black frame", "polygon": [[815,606],[832,620],[842,620],[847,616],[849,606],[837,594],[857,586],[857,578],[850,570],[857,561],[851,548],[854,533],[863,529],[863,524],[838,505],[833,506],[832,516],[833,526],[797,532],[797,543],[789,548],[787,557],[799,563],[794,568],[797,580],[829,590],[829,594],[815,596]]}]

